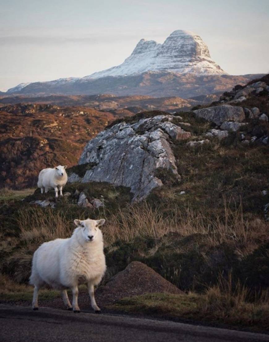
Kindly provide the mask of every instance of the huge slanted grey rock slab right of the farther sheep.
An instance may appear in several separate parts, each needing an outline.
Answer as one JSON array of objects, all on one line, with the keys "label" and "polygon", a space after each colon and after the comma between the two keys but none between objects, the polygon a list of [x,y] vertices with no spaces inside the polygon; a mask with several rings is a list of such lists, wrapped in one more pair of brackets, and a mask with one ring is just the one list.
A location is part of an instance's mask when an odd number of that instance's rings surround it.
[{"label": "huge slanted grey rock slab right of the farther sheep", "polygon": [[155,176],[157,168],[171,170],[180,180],[169,140],[186,139],[191,133],[172,123],[172,119],[171,115],[158,115],[133,124],[121,122],[100,132],[87,143],[78,162],[94,165],[82,182],[130,187],[135,201],[162,185]]}]

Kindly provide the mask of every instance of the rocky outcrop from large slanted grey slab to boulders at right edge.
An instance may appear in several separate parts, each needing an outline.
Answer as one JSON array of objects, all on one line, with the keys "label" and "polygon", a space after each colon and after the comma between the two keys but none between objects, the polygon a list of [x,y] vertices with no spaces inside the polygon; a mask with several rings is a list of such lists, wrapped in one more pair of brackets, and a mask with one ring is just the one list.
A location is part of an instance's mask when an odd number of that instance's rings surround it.
[{"label": "rocky outcrop from large slanted grey slab to boulders at right edge", "polygon": [[[255,142],[268,146],[268,89],[266,82],[256,81],[245,87],[236,86],[230,97],[224,94],[214,105],[192,112],[145,112],[115,121],[88,142],[78,162],[80,175],[73,172],[69,181],[106,181],[130,187],[136,201],[163,185],[163,172],[170,173],[177,182],[181,180],[173,154],[175,142],[185,141],[189,148],[233,135],[241,145]],[[223,98],[228,98],[227,104]],[[238,105],[246,101],[250,101],[246,107]],[[260,109],[252,107],[253,103],[260,103]],[[194,134],[192,126],[196,123],[190,122],[193,119],[206,120],[208,130]]]}]

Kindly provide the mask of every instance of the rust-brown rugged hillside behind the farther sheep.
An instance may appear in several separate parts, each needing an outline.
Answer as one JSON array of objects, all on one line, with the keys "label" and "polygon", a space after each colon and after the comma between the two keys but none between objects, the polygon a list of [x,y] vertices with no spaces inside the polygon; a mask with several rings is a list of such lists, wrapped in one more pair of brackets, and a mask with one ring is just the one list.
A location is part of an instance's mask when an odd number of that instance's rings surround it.
[{"label": "rust-brown rugged hillside behind the farther sheep", "polygon": [[1,107],[0,187],[35,186],[40,169],[75,165],[85,143],[118,117],[85,107]]}]

